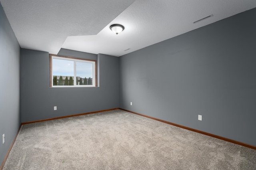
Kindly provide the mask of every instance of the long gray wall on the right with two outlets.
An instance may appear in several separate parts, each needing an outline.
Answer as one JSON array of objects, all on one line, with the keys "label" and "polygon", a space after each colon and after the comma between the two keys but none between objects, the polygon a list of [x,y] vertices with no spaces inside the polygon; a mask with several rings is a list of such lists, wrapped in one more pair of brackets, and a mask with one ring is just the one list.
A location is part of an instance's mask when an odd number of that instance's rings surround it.
[{"label": "long gray wall on the right with two outlets", "polygon": [[256,146],[255,16],[121,56],[120,108]]}]

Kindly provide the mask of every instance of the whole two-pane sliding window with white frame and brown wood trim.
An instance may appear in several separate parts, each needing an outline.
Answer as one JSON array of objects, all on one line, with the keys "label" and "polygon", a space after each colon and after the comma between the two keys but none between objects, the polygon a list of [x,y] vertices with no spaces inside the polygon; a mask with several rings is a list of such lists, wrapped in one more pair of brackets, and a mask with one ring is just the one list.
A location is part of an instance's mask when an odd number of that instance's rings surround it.
[{"label": "whole two-pane sliding window with white frame and brown wood trim", "polygon": [[50,87],[96,87],[96,61],[50,54]]}]

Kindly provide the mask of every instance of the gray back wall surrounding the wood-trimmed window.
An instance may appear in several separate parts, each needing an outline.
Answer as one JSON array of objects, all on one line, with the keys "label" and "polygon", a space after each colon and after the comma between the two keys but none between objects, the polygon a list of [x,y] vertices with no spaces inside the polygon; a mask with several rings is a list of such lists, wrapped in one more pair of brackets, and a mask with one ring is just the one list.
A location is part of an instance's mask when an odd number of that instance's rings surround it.
[{"label": "gray back wall surrounding the wood-trimmed window", "polygon": [[[118,57],[67,49],[61,49],[58,54],[98,58],[100,87],[49,87],[49,53],[21,49],[22,122],[119,107]],[[54,106],[57,106],[57,111],[54,111]]]}]

